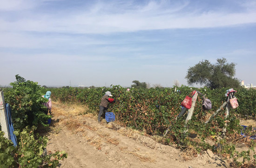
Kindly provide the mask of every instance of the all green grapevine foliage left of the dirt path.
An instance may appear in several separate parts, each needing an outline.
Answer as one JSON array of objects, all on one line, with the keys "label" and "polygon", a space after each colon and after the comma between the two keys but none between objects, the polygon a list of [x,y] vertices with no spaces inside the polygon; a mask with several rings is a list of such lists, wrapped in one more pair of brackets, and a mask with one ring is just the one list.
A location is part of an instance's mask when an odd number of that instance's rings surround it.
[{"label": "all green grapevine foliage left of the dirt path", "polygon": [[[10,140],[4,138],[0,131],[0,165],[9,167],[57,167],[59,160],[67,157],[65,152],[42,155],[47,145],[47,137],[34,135],[34,125],[41,123],[44,126],[47,116],[46,107],[42,104],[47,102],[41,97],[45,89],[36,82],[26,81],[25,78],[16,75],[16,82],[11,83],[13,88],[4,89],[5,103],[9,103],[12,110],[14,133],[17,136],[18,146],[14,147]],[[29,128],[27,125],[32,126]],[[22,130],[22,131],[21,131]]]}]

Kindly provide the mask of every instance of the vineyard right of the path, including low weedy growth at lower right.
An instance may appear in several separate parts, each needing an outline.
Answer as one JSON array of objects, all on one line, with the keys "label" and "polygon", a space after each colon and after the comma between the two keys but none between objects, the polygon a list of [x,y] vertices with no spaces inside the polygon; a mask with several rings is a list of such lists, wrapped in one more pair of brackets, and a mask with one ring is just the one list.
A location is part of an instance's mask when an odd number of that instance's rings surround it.
[{"label": "vineyard right of the path, including low weedy growth at lower right", "polygon": [[[146,132],[165,145],[175,145],[178,149],[186,150],[193,146],[195,153],[201,153],[207,149],[212,150],[225,158],[232,158],[233,165],[254,164],[255,141],[243,138],[240,135],[243,127],[239,118],[254,118],[256,111],[256,90],[238,89],[236,97],[239,107],[231,109],[228,118],[224,117],[224,109],[216,115],[208,124],[204,124],[209,116],[220,108],[226,101],[225,93],[230,88],[210,90],[208,88],[190,88],[182,86],[176,88],[150,88],[127,91],[121,86],[111,88],[60,88],[48,89],[52,91],[52,98],[61,102],[87,104],[95,115],[99,110],[101,97],[106,91],[111,91],[115,103],[111,104],[108,111],[115,113],[117,121],[123,126]],[[181,102],[192,90],[200,91],[212,102],[212,109],[202,109],[202,97],[198,96],[192,119],[185,125],[185,116],[175,120],[181,111]],[[227,132],[224,138],[222,127],[227,124]],[[165,130],[170,127],[167,136],[163,137]],[[188,129],[188,132],[184,133]],[[252,128],[247,129],[248,134]],[[251,133],[253,134],[253,133]],[[193,137],[194,136],[194,137]],[[196,137],[196,138],[195,138]],[[210,142],[209,142],[210,141]],[[244,142],[250,147],[247,151],[236,150],[236,145]],[[238,162],[239,158],[243,158]]]}]

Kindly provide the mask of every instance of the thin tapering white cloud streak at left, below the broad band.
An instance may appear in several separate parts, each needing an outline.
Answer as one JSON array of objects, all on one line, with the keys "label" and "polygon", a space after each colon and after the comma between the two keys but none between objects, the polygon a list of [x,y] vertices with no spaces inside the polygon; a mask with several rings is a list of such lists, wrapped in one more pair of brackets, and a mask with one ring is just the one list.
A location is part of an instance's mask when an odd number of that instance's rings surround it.
[{"label": "thin tapering white cloud streak at left, below the broad band", "polygon": [[65,34],[41,35],[29,32],[0,32],[0,47],[40,49],[58,46],[87,46],[87,45],[112,45],[117,42],[111,40],[95,39],[89,36],[70,36]]}]

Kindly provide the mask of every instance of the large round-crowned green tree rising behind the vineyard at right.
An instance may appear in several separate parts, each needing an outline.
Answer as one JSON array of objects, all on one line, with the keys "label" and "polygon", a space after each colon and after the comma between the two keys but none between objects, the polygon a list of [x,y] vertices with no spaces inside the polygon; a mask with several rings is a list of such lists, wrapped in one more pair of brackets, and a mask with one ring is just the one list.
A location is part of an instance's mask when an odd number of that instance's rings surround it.
[{"label": "large round-crowned green tree rising behind the vineyard at right", "polygon": [[189,67],[186,79],[188,84],[204,84],[216,89],[222,87],[238,88],[239,79],[235,78],[235,63],[227,63],[226,58],[218,58],[216,64],[211,64],[209,60],[202,60],[193,67]]}]

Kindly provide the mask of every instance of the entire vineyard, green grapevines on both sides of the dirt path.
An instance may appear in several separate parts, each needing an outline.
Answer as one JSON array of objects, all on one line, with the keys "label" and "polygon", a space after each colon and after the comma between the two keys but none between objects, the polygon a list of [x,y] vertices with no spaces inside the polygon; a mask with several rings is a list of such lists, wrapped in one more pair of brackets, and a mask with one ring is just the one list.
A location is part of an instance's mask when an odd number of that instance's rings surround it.
[{"label": "entire vineyard, green grapevines on both sides of the dirt path", "polygon": [[[238,108],[230,109],[227,118],[224,114],[225,109],[222,109],[205,124],[226,101],[225,93],[230,88],[210,90],[206,87],[191,88],[184,85],[173,88],[131,88],[129,91],[120,85],[93,89],[43,88],[19,76],[16,76],[16,80],[17,82],[11,83],[13,88],[2,89],[6,103],[12,108],[15,134],[19,141],[18,148],[14,148],[12,143],[5,140],[2,133],[0,134],[2,139],[0,163],[7,166],[15,164],[20,167],[34,165],[56,167],[59,160],[67,158],[65,152],[59,151],[42,157],[47,138],[34,134],[35,126],[48,126],[47,119],[50,116],[43,112],[45,110],[43,103],[46,100],[41,97],[47,90],[52,92],[53,101],[86,105],[88,111],[95,116],[99,111],[101,97],[106,91],[110,91],[115,103],[110,104],[108,111],[115,113],[115,120],[121,126],[139,130],[156,142],[189,151],[195,157],[211,150],[215,155],[228,159],[230,166],[249,167],[256,164],[256,142],[250,138],[256,134],[253,132],[255,130],[248,125],[249,127],[243,132],[246,137],[243,137],[241,135],[243,126],[239,121],[239,119],[255,120],[256,90],[254,89],[237,89]],[[202,96],[198,95],[193,116],[186,124],[186,115],[177,120],[175,118],[182,110],[182,100],[193,90],[209,98],[212,109],[203,110]],[[225,123],[227,123],[226,136],[223,137],[222,128]],[[168,134],[163,136],[168,128]],[[241,147],[246,147],[246,150],[239,150]]]}]

